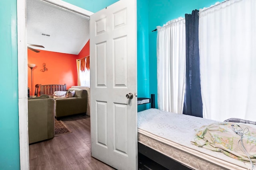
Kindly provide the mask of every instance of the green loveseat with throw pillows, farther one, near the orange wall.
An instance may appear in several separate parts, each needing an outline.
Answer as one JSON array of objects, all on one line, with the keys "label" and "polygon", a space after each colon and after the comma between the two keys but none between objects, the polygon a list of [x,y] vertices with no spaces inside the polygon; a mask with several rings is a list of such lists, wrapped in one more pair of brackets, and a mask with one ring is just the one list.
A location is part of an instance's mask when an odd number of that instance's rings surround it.
[{"label": "green loveseat with throw pillows, farther one, near the orange wall", "polygon": [[60,117],[75,115],[79,113],[86,113],[87,109],[87,92],[86,90],[78,88],[70,88],[68,91],[75,90],[72,98],[57,98],[55,99],[57,119]]}]

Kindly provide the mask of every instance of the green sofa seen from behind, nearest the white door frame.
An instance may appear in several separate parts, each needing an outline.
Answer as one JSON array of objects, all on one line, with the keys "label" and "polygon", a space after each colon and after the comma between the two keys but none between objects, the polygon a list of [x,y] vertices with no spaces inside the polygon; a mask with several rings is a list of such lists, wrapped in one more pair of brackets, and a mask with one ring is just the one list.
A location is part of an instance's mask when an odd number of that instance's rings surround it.
[{"label": "green sofa seen from behind, nearest the white door frame", "polygon": [[47,95],[28,98],[28,138],[35,143],[54,137],[55,102]]}]

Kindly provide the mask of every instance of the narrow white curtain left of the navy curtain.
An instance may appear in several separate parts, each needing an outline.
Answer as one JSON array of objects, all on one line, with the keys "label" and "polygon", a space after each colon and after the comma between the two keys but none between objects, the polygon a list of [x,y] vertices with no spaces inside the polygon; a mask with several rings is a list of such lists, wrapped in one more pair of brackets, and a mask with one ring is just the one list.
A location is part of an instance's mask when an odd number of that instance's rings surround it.
[{"label": "narrow white curtain left of the navy curtain", "polygon": [[185,19],[157,27],[158,108],[182,113],[186,73]]}]

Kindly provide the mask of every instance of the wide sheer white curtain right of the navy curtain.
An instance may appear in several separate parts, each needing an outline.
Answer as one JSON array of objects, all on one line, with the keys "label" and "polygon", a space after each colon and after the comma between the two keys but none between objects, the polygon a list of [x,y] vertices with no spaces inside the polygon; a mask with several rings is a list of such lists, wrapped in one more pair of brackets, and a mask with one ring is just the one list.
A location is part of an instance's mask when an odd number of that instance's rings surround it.
[{"label": "wide sheer white curtain right of the navy curtain", "polygon": [[199,12],[203,117],[256,120],[256,0]]}]

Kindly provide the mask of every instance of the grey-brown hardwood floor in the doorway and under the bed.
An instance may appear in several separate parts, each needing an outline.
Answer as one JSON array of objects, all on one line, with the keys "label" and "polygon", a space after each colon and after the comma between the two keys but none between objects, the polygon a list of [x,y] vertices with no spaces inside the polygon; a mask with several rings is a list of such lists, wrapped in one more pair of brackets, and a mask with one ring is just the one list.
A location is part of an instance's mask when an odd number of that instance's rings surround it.
[{"label": "grey-brown hardwood floor in the doorway and under the bed", "polygon": [[[72,133],[29,145],[30,170],[113,170],[91,156],[90,117],[61,119]],[[139,170],[166,170],[139,154]]]}]

